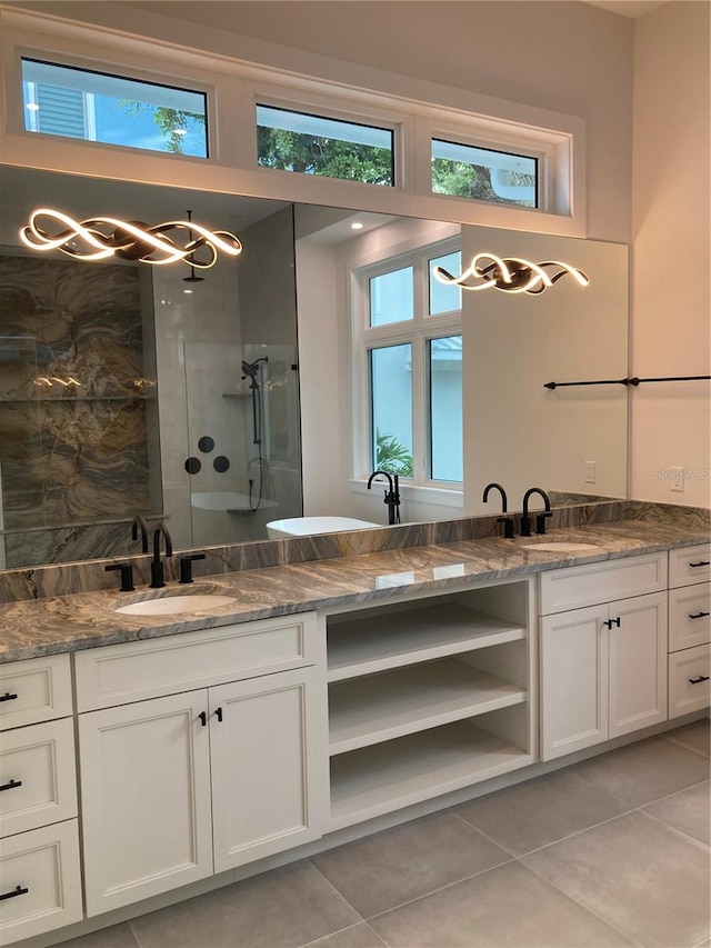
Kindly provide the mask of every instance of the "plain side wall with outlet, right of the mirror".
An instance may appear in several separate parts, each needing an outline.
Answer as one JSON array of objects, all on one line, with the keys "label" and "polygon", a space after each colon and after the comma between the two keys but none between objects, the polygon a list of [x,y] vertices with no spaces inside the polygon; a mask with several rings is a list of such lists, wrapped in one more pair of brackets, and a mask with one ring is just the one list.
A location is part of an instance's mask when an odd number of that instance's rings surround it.
[{"label": "plain side wall with outlet, right of the mirror", "polygon": [[[642,17],[634,44],[632,371],[709,375],[709,4]],[[709,382],[640,386],[631,496],[709,506]],[[687,469],[684,492],[670,468]]]}]

